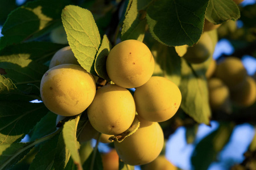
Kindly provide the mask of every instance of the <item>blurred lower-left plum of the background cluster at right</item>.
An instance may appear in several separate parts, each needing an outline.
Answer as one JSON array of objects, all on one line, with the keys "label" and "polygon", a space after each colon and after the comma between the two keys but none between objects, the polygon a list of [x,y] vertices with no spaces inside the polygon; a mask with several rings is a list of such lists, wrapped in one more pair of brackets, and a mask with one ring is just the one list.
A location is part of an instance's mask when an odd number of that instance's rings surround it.
[{"label": "blurred lower-left plum of the background cluster at right", "polygon": [[229,103],[229,88],[221,79],[211,78],[208,80],[209,104],[213,110],[221,109]]}]

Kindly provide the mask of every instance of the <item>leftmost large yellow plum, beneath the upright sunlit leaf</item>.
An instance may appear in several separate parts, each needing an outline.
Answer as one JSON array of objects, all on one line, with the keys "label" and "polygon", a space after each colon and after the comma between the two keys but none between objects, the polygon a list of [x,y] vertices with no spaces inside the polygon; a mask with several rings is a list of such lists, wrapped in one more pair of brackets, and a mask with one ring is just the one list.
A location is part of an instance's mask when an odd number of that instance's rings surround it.
[{"label": "leftmost large yellow plum, beneath the upright sunlit leaf", "polygon": [[44,105],[61,116],[75,116],[92,103],[96,94],[93,76],[81,66],[64,64],[43,75],[40,94]]}]

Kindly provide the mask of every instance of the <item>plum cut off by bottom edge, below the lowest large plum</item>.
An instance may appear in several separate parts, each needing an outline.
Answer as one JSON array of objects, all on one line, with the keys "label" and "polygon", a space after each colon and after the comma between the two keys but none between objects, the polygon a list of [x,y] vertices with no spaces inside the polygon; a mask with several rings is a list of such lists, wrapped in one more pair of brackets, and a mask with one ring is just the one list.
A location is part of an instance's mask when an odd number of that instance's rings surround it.
[{"label": "plum cut off by bottom edge, below the lowest large plum", "polygon": [[160,155],[151,163],[143,165],[142,170],[177,170],[177,167],[169,162],[165,156]]}]

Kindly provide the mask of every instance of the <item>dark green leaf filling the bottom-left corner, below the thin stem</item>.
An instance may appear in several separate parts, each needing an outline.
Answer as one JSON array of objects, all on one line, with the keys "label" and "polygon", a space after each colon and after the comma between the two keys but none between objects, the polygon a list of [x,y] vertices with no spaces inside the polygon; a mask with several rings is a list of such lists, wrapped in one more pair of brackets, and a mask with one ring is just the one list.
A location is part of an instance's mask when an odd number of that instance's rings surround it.
[{"label": "dark green leaf filling the bottom-left corner, below the thin stem", "polygon": [[32,149],[31,143],[0,145],[0,169],[10,169]]}]

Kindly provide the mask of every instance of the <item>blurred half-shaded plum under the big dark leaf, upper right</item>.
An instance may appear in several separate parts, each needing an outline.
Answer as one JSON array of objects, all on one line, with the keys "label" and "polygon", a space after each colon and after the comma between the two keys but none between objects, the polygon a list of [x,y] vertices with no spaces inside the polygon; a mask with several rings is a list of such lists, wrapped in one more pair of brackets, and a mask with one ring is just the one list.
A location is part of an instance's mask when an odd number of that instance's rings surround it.
[{"label": "blurred half-shaded plum under the big dark leaf, upper right", "polygon": [[207,32],[203,33],[196,45],[188,47],[183,56],[188,62],[202,63],[213,53],[213,42]]}]

